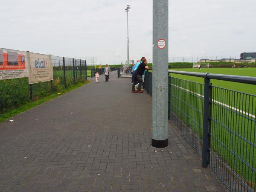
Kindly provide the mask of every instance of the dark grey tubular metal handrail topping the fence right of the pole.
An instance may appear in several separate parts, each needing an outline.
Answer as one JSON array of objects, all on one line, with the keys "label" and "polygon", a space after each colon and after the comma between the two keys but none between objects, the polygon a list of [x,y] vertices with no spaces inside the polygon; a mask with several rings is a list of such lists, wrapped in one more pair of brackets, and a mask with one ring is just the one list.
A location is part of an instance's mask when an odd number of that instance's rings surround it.
[{"label": "dark grey tubular metal handrail topping the fence right of the pole", "polygon": [[218,79],[218,80],[233,81],[233,82],[246,83],[246,84],[256,84],[256,77],[250,77],[250,76],[232,76],[232,75],[223,75],[223,74],[215,74],[215,73],[198,73],[198,72],[175,71],[175,70],[168,70],[168,72],[180,74],[180,75],[187,75],[187,76],[204,77],[207,79]]}]

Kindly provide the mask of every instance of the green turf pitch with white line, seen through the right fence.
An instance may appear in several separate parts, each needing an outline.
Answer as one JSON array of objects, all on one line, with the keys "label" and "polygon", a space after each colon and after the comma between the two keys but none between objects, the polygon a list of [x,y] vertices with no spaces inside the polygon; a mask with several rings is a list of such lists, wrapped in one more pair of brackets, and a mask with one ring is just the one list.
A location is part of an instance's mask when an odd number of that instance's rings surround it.
[{"label": "green turf pitch with white line, seen through the right fence", "polygon": [[[256,77],[256,68],[175,70]],[[194,82],[204,83],[204,78],[173,73],[171,77],[171,110],[201,138],[204,86]],[[211,150],[218,154],[222,163],[227,163],[230,171],[239,174],[246,180],[248,186],[255,189],[256,85],[214,79],[211,79],[211,83],[213,85]],[[218,163],[214,166],[218,167]]]}]

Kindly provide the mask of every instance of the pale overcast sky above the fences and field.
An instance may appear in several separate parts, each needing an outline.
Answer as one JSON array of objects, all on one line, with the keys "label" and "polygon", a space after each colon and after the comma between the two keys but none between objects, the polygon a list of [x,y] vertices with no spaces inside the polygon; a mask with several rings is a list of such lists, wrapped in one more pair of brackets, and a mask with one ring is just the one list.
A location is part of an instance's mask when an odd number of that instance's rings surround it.
[{"label": "pale overcast sky above the fences and field", "polygon": [[[0,47],[120,64],[152,61],[153,0],[6,0]],[[256,0],[169,0],[169,60],[256,52]]]}]

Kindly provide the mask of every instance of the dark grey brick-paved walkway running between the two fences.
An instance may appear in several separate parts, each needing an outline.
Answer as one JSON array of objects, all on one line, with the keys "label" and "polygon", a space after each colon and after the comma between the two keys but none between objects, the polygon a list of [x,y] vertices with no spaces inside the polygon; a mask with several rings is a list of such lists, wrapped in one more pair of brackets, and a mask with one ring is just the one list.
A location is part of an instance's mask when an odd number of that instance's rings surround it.
[{"label": "dark grey brick-paved walkway running between the two fences", "polygon": [[151,147],[151,96],[114,73],[0,123],[0,191],[225,191],[171,122]]}]

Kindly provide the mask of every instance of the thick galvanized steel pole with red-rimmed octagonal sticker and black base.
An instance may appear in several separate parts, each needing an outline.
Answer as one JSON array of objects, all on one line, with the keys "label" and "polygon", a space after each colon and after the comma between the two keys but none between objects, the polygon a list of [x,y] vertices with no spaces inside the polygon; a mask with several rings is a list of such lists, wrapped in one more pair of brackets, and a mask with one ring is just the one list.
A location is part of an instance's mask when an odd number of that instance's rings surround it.
[{"label": "thick galvanized steel pole with red-rimmed octagonal sticker and black base", "polygon": [[153,0],[152,146],[168,146],[168,0]]}]

